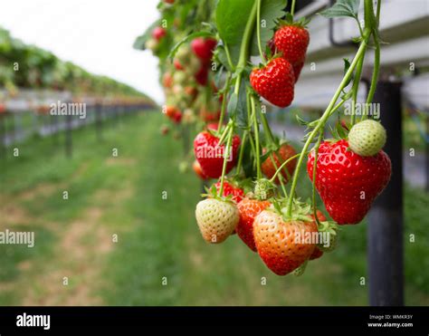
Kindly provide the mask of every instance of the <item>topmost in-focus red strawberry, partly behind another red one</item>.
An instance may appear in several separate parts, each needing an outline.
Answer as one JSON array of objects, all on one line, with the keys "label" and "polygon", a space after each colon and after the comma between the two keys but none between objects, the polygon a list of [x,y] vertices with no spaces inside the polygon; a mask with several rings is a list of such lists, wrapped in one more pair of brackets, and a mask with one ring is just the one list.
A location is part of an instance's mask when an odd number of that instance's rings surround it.
[{"label": "topmost in-focus red strawberry, partly behind another red one", "polygon": [[275,32],[274,43],[285,60],[296,64],[305,60],[310,34],[300,24],[284,24]]}]

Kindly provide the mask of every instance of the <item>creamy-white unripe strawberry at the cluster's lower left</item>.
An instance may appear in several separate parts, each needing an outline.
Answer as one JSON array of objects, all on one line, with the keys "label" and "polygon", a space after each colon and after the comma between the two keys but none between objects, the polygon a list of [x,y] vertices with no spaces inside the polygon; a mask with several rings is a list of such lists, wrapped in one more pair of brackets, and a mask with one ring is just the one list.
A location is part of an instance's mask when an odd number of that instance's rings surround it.
[{"label": "creamy-white unripe strawberry at the cluster's lower left", "polygon": [[237,206],[232,202],[207,198],[195,209],[196,222],[207,243],[219,244],[233,234],[238,224]]}]

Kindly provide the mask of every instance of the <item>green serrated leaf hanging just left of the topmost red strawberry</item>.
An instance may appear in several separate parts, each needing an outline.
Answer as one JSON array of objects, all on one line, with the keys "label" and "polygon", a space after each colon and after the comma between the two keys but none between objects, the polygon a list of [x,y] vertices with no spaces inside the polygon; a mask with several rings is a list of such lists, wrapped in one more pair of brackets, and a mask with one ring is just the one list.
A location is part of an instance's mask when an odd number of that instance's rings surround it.
[{"label": "green serrated leaf hanging just left of the topmost red strawberry", "polygon": [[[288,5],[288,0],[263,0],[261,5],[261,45],[262,51],[265,45],[272,39],[274,28],[277,22],[285,15],[284,8]],[[253,32],[251,43],[251,55],[259,55],[258,35],[256,29]]]}]

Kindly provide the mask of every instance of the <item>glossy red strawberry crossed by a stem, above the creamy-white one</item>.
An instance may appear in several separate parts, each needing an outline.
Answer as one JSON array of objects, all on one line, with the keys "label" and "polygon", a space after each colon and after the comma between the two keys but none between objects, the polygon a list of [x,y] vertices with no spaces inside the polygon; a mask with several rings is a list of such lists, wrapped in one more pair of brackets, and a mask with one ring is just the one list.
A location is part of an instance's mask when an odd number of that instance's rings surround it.
[{"label": "glossy red strawberry crossed by a stem, above the creamy-white one", "polygon": [[224,153],[225,144],[221,146],[218,144],[219,138],[206,130],[200,132],[194,140],[195,158],[209,178],[221,177],[222,168],[224,166],[224,155],[229,154],[225,174],[234,168],[238,157],[237,153],[240,146],[240,138],[237,135],[233,137],[232,150],[230,153]]}]

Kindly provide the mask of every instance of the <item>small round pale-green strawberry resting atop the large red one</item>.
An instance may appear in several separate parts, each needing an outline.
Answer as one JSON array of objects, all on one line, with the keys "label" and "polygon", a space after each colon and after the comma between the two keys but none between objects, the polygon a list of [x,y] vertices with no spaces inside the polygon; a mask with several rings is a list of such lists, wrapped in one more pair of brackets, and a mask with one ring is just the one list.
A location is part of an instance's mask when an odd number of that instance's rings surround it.
[{"label": "small round pale-green strawberry resting atop the large red one", "polygon": [[376,120],[360,121],[348,133],[348,146],[362,157],[376,155],[385,144],[386,130]]}]

